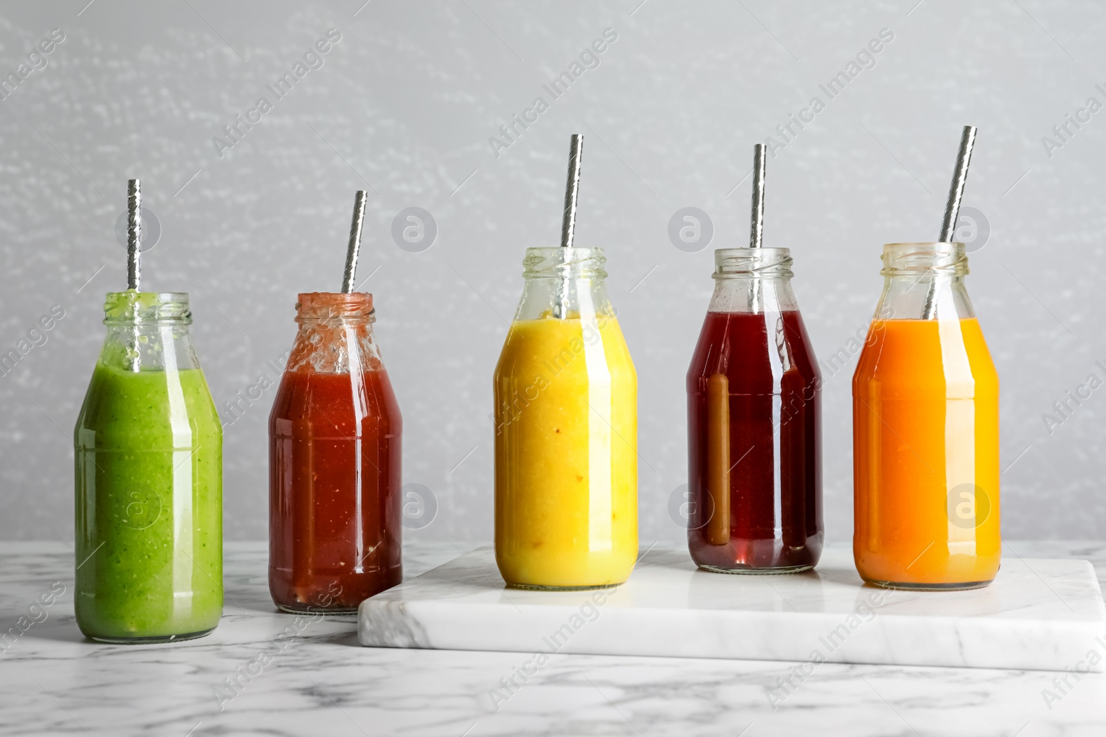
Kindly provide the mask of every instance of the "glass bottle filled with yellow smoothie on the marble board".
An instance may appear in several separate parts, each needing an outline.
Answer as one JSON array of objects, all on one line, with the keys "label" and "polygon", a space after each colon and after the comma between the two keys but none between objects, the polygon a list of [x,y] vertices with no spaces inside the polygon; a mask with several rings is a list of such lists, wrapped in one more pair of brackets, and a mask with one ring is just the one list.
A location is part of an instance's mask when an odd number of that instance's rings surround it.
[{"label": "glass bottle filled with yellow smoothie on the marble board", "polygon": [[626,580],[637,558],[637,375],[599,249],[526,249],[495,367],[495,560],[530,589]]}]

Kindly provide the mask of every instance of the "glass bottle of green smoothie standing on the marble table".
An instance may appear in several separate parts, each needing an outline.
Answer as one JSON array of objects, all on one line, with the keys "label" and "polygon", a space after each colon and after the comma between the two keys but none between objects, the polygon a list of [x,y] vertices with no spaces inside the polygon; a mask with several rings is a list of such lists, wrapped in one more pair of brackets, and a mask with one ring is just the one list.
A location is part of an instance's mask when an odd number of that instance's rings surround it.
[{"label": "glass bottle of green smoothie standing on the marble table", "polygon": [[81,631],[187,640],[222,613],[222,428],[182,293],[107,295],[73,433]]}]

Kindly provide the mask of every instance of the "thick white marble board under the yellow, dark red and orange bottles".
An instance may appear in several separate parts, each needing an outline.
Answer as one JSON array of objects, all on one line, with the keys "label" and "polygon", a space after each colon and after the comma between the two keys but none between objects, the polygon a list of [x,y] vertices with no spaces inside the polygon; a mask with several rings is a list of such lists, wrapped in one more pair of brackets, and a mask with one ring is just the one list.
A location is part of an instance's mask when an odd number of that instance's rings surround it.
[{"label": "thick white marble board under the yellow, dark red and orange bottles", "polygon": [[376,647],[660,655],[811,663],[1106,671],[1106,608],[1085,560],[1006,557],[971,591],[865,586],[846,549],[814,571],[728,576],[686,550],[647,551],[601,591],[510,589],[491,548],[463,554],[361,604]]}]

